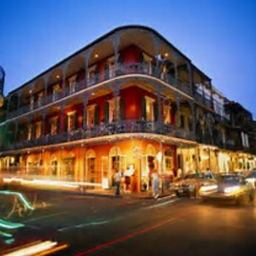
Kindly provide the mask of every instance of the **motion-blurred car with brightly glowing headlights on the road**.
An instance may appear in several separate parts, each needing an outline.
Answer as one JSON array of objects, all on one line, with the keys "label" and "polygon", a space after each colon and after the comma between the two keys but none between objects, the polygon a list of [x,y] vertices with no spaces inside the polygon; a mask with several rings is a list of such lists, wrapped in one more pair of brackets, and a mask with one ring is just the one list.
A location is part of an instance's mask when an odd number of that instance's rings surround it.
[{"label": "motion-blurred car with brightly glowing headlights on the road", "polygon": [[237,204],[247,201],[253,201],[254,188],[252,183],[247,182],[245,177],[241,174],[222,174],[220,182],[215,189],[207,186],[200,189],[200,195],[208,199],[227,199],[235,200]]}]

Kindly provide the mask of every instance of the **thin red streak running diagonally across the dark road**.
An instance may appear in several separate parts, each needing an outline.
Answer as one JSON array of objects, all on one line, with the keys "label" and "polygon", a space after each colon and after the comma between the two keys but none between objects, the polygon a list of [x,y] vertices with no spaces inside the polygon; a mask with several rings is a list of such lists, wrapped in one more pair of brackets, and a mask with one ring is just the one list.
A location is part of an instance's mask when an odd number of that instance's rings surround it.
[{"label": "thin red streak running diagonally across the dark road", "polygon": [[125,236],[118,237],[116,239],[113,239],[112,241],[109,241],[109,242],[106,242],[106,243],[102,243],[100,245],[92,247],[91,249],[88,249],[86,251],[78,253],[78,254],[76,254],[76,256],[83,256],[83,255],[86,255],[86,254],[90,254],[92,252],[101,250],[101,249],[103,249],[105,247],[109,247],[110,245],[114,245],[114,244],[117,244],[119,242],[123,242],[123,241],[125,241],[125,240],[127,240],[129,238],[133,238],[133,237],[135,237],[137,235],[140,235],[140,234],[143,234],[143,233],[147,233],[148,231],[151,231],[151,230],[154,230],[154,229],[156,229],[158,227],[164,226],[167,223],[171,223],[171,222],[173,222],[175,220],[181,219],[185,215],[188,215],[188,212],[176,215],[175,217],[171,217],[171,218],[166,219],[166,220],[164,220],[162,222],[158,222],[155,225],[149,226],[147,228],[138,229],[137,231],[134,231],[133,233],[127,234]]}]

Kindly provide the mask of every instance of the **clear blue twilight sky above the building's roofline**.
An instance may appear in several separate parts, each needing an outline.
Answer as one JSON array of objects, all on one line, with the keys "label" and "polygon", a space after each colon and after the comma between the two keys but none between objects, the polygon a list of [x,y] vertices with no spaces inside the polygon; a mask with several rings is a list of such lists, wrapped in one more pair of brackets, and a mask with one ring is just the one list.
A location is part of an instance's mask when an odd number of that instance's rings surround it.
[{"label": "clear blue twilight sky above the building's roofline", "polygon": [[256,118],[253,0],[0,0],[5,95],[123,25],[157,30]]}]

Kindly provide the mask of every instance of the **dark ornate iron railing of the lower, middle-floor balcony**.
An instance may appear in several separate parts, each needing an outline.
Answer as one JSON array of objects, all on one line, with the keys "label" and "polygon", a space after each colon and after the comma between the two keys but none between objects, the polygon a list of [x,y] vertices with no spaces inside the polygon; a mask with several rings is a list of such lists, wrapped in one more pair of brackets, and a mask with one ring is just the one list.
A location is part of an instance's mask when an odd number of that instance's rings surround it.
[{"label": "dark ornate iron railing of the lower, middle-floor balcony", "polygon": [[12,145],[4,145],[3,151],[52,145],[56,143],[104,137],[107,135],[121,133],[154,133],[186,140],[195,140],[195,135],[193,132],[175,127],[172,124],[164,124],[163,122],[154,121],[147,122],[140,120],[129,120],[103,123],[91,127],[87,126],[85,128],[57,133],[54,135],[47,134],[38,139],[26,140],[13,143]]}]

